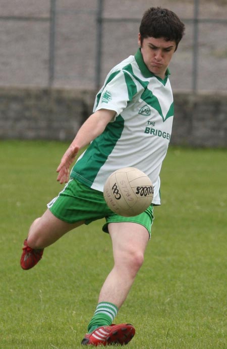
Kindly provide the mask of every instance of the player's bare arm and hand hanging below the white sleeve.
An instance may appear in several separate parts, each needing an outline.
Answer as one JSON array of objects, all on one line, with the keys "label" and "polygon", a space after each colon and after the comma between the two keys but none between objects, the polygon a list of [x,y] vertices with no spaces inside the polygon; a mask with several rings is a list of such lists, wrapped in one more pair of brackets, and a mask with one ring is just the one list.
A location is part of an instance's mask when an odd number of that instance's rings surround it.
[{"label": "player's bare arm and hand hanging below the white sleeve", "polygon": [[61,184],[69,181],[70,166],[75,161],[79,150],[101,134],[115,114],[113,110],[100,109],[83,123],[56,170],[59,173],[57,180]]}]

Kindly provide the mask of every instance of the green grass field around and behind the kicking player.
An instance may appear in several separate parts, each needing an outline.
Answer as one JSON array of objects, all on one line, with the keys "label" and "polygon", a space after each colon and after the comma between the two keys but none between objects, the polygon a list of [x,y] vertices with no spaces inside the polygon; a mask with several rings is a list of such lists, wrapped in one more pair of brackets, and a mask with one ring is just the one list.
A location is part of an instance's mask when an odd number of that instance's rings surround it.
[{"label": "green grass field around and behind the kicking player", "polygon": [[[48,247],[35,268],[20,268],[30,224],[62,188],[55,168],[67,146],[0,142],[1,349],[80,348],[112,265],[99,221]],[[226,156],[169,149],[145,262],[116,318],[136,328],[129,348],[227,348]]]}]

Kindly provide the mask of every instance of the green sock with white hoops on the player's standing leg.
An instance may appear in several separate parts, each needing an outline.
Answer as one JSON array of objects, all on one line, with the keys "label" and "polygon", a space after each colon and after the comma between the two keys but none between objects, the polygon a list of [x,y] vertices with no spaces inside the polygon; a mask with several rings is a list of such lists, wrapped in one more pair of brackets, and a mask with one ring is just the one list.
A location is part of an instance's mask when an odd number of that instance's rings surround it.
[{"label": "green sock with white hoops on the player's standing leg", "polygon": [[113,319],[118,313],[116,305],[108,302],[100,302],[94,312],[91,321],[88,324],[88,333],[93,332],[100,326],[111,325]]}]

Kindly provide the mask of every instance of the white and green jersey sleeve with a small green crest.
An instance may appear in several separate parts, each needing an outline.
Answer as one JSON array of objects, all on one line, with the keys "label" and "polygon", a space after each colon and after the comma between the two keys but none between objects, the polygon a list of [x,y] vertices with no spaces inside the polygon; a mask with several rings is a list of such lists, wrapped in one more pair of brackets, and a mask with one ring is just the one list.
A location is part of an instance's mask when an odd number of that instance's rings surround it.
[{"label": "white and green jersey sleeve with a small green crest", "polygon": [[116,116],[121,114],[135,93],[135,88],[132,91],[131,80],[130,75],[123,70],[110,74],[106,78],[104,87],[96,97],[94,111],[108,109],[116,111]]}]

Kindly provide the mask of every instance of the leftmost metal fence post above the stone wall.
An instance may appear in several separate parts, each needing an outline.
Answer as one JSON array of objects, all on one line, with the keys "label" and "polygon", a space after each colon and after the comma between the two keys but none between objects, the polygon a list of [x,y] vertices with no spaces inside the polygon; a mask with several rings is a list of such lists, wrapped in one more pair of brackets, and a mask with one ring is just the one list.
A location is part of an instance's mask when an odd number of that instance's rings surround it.
[{"label": "leftmost metal fence post above the stone wall", "polygon": [[49,22],[49,77],[48,86],[51,87],[54,81],[54,58],[55,58],[55,20],[56,0],[50,0],[50,22]]}]

